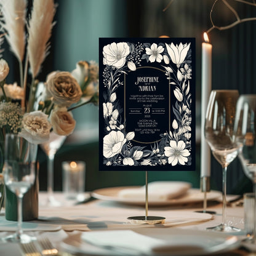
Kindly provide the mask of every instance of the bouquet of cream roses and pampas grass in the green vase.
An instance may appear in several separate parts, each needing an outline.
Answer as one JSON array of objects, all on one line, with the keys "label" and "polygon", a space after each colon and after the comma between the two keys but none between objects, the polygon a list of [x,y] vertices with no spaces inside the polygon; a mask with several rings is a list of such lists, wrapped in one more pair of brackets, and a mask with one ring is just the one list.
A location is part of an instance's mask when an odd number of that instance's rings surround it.
[{"label": "bouquet of cream roses and pampas grass in the green vase", "polygon": [[49,140],[50,132],[70,135],[76,126],[71,110],[98,103],[98,65],[80,61],[73,71],[54,71],[45,82],[39,82],[36,77],[49,53],[54,26],[54,0],[34,0],[29,15],[26,0],[0,0],[0,7],[0,45],[6,38],[20,68],[20,81],[6,84],[9,65],[6,60],[0,60],[0,156],[3,158],[2,145],[7,133],[20,133],[35,144]]}]

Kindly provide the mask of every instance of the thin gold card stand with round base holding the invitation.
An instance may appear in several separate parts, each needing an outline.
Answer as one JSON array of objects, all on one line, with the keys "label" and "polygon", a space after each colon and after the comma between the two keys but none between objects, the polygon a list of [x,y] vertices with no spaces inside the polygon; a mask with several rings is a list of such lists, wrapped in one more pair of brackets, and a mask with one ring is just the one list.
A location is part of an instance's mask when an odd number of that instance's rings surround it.
[{"label": "thin gold card stand with round base holding the invitation", "polygon": [[163,224],[166,220],[165,217],[159,216],[148,216],[148,171],[145,172],[146,176],[146,202],[145,202],[145,216],[133,216],[128,217],[129,223],[132,224]]}]

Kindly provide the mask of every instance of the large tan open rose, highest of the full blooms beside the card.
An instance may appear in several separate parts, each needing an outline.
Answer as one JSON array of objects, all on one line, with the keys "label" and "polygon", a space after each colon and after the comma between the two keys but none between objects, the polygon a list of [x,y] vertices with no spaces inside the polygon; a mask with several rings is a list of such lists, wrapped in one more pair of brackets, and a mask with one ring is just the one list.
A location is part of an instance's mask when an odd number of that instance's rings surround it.
[{"label": "large tan open rose, highest of the full blooms beside the card", "polygon": [[69,72],[57,72],[50,76],[46,86],[52,101],[59,106],[70,106],[82,96],[78,82]]}]

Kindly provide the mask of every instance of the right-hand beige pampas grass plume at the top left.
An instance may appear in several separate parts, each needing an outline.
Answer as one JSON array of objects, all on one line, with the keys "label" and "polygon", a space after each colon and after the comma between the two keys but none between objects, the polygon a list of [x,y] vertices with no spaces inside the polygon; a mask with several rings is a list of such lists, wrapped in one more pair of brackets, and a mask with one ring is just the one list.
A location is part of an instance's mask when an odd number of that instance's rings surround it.
[{"label": "right-hand beige pampas grass plume at the top left", "polygon": [[52,23],[55,14],[54,0],[34,0],[28,25],[28,60],[33,78],[39,73],[50,47]]}]

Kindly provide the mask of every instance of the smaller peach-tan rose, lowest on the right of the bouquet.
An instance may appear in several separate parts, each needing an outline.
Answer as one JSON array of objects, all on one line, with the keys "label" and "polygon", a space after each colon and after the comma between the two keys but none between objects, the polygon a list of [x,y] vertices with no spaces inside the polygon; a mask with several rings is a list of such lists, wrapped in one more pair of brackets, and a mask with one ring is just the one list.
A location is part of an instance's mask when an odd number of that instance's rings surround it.
[{"label": "smaller peach-tan rose, lowest on the right of the bouquet", "polygon": [[70,135],[76,126],[76,121],[66,108],[53,110],[50,114],[50,122],[55,134],[58,135]]}]

